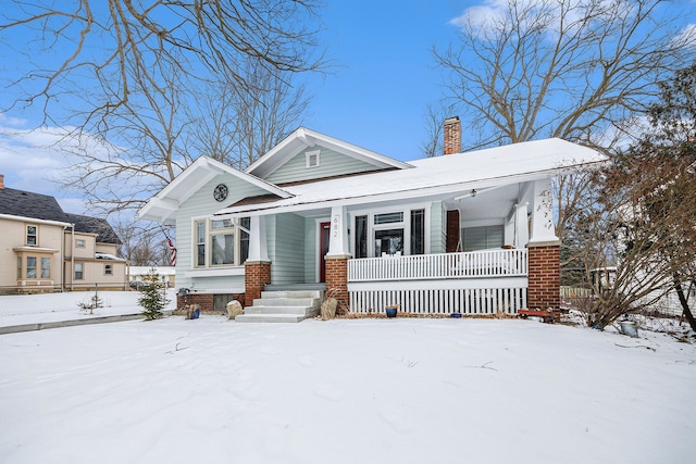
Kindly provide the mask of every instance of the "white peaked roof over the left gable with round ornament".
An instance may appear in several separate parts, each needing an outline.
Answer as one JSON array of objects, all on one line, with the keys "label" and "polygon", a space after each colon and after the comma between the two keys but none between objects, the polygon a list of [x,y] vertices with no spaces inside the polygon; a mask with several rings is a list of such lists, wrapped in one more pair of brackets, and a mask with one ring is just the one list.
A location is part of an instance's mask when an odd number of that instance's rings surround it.
[{"label": "white peaked roof over the left gable with round ornament", "polygon": [[145,206],[138,211],[138,217],[157,222],[171,220],[176,214],[179,204],[188,200],[219,174],[229,174],[278,198],[291,197],[291,193],[263,179],[237,171],[212,158],[200,156],[159,193],[150,198]]}]

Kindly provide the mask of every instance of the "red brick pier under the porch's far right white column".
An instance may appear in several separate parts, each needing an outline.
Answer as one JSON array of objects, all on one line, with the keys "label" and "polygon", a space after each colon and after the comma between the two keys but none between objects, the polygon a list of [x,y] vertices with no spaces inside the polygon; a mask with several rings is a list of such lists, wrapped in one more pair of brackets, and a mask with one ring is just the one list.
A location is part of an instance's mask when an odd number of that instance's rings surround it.
[{"label": "red brick pier under the porch's far right white column", "polygon": [[530,287],[527,306],[530,309],[554,309],[561,304],[560,244],[530,243]]}]

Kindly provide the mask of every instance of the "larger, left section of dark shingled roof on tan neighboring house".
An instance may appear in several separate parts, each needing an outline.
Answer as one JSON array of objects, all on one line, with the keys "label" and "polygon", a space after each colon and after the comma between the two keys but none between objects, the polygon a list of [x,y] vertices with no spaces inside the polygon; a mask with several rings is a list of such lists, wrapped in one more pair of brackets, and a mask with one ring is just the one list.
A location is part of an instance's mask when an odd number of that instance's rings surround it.
[{"label": "larger, left section of dark shingled roof on tan neighboring house", "polygon": [[0,189],[0,214],[59,223],[70,222],[55,198],[7,187]]}]

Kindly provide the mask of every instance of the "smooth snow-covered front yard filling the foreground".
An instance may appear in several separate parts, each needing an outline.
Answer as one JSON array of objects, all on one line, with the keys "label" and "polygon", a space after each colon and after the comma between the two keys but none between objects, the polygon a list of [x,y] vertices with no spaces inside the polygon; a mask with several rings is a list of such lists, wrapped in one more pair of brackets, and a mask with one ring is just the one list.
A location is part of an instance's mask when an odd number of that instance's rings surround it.
[{"label": "smooth snow-covered front yard filling the foreground", "polygon": [[[693,337],[691,337],[693,340]],[[696,344],[222,316],[0,336],[0,462],[691,463]]]}]

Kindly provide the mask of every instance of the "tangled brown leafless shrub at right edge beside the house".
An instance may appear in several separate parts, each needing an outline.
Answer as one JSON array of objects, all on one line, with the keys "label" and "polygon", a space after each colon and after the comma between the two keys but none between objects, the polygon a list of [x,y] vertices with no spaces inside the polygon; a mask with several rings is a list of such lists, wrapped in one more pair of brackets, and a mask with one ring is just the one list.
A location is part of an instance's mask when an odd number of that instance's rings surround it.
[{"label": "tangled brown leafless shrub at right edge beside the house", "polygon": [[[683,143],[691,143],[691,149]],[[691,153],[688,152],[691,150]],[[595,173],[582,204],[583,260],[596,299],[588,324],[604,328],[619,316],[650,309],[682,283],[696,263],[696,156],[693,142],[644,140]],[[611,269],[611,279],[600,275]],[[688,308],[684,309],[696,329]]]}]

